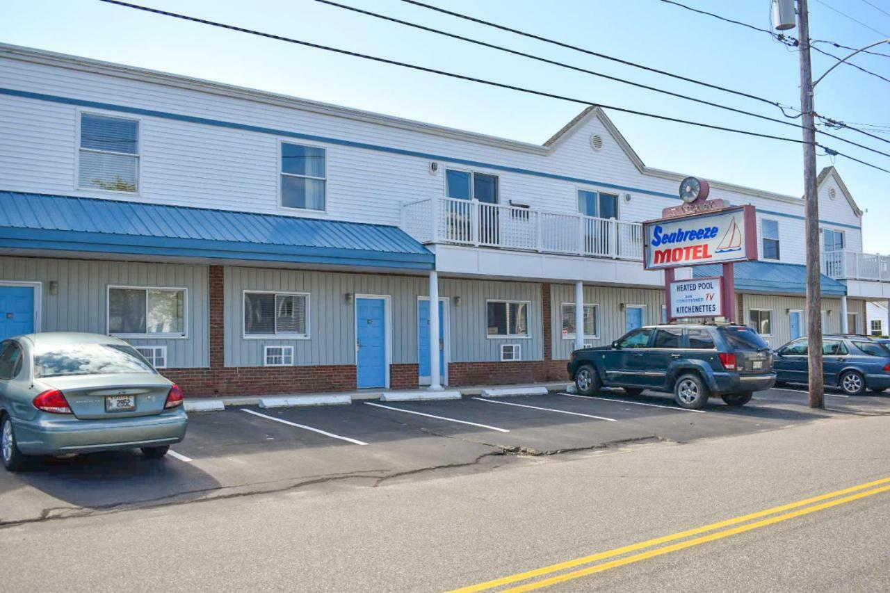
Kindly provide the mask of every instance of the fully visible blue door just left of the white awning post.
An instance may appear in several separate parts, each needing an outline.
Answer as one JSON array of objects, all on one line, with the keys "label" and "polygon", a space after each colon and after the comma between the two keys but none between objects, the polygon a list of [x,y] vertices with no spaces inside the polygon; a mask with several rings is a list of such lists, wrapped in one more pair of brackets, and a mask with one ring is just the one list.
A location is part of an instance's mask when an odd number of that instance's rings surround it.
[{"label": "fully visible blue door just left of the white awning post", "polygon": [[386,300],[357,298],[356,365],[359,388],[386,386]]}]

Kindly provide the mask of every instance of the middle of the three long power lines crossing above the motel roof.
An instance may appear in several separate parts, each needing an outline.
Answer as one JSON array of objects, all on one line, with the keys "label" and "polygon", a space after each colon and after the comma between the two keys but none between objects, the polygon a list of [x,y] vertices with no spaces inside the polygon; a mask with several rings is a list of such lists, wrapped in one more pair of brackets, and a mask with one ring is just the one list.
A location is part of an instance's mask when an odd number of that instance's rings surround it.
[{"label": "middle of the three long power lines crossing above the motel roof", "polygon": [[[647,89],[647,90],[650,90],[650,91],[654,91],[654,92],[656,92],[656,93],[667,94],[667,95],[670,95],[670,96],[672,96],[672,97],[677,97],[677,98],[679,98],[679,99],[684,99],[684,100],[686,100],[686,101],[697,102],[697,103],[701,103],[701,104],[704,104],[704,105],[708,105],[708,106],[710,106],[710,107],[716,107],[717,109],[722,109],[722,110],[732,111],[732,112],[734,112],[734,113],[740,113],[740,114],[742,114],[742,115],[747,115],[747,116],[750,116],[750,117],[752,117],[752,118],[765,119],[766,121],[772,121],[772,122],[775,122],[775,123],[782,124],[782,125],[784,125],[784,126],[792,126],[792,127],[795,127],[795,128],[799,127],[799,126],[797,126],[796,123],[790,122],[790,121],[785,120],[785,119],[771,118],[771,117],[769,117],[769,116],[760,115],[760,114],[758,114],[758,113],[753,113],[753,112],[751,112],[751,111],[740,110],[740,109],[736,109],[736,108],[733,108],[733,107],[728,107],[728,106],[726,106],[726,105],[721,105],[720,103],[715,103],[715,102],[705,101],[705,100],[703,100],[703,99],[699,99],[699,98],[697,98],[697,97],[691,97],[691,96],[688,96],[688,95],[685,95],[685,94],[682,94],[682,93],[674,93],[674,92],[672,92],[672,91],[667,91],[667,90],[662,89],[662,88],[659,88],[659,87],[657,87],[657,86],[643,85],[643,84],[641,84],[641,83],[636,83],[636,82],[627,80],[627,79],[625,79],[625,78],[613,77],[613,76],[610,76],[610,75],[607,75],[607,74],[603,74],[603,73],[601,73],[601,72],[595,72],[594,70],[584,69],[584,68],[580,68],[580,67],[578,67],[578,66],[572,66],[572,65],[570,65],[570,64],[566,64],[566,63],[564,63],[564,62],[562,62],[562,61],[550,60],[549,58],[543,58],[543,57],[541,57],[541,56],[534,55],[534,54],[532,54],[532,53],[520,52],[520,51],[517,51],[517,50],[514,50],[514,49],[510,49],[510,48],[508,48],[508,47],[504,47],[503,45],[491,44],[491,43],[489,43],[489,42],[481,41],[481,40],[479,40],[479,39],[473,39],[472,37],[464,37],[464,36],[462,36],[462,35],[457,35],[456,33],[449,33],[448,31],[443,31],[443,30],[438,29],[438,28],[426,27],[425,25],[420,25],[420,24],[417,24],[417,23],[414,23],[414,22],[410,22],[409,20],[401,20],[401,19],[397,19],[397,18],[395,18],[395,17],[387,16],[387,15],[385,15],[385,14],[380,14],[379,12],[366,11],[366,10],[364,10],[364,9],[357,8],[357,7],[355,7],[355,6],[349,6],[349,5],[347,5],[347,4],[340,4],[340,3],[334,2],[333,0],[316,0],[316,2],[320,2],[321,4],[328,4],[328,5],[330,5],[330,6],[336,6],[337,8],[342,8],[342,9],[344,9],[344,10],[351,11],[351,12],[358,12],[358,13],[360,13],[360,14],[365,14],[365,15],[367,15],[367,16],[371,16],[371,17],[374,17],[374,18],[376,18],[376,19],[386,20],[386,21],[389,21],[389,22],[398,23],[398,24],[400,24],[400,25],[405,25],[405,26],[407,26],[407,27],[418,28],[418,29],[421,29],[421,30],[424,30],[424,31],[427,31],[427,32],[430,32],[430,33],[435,33],[435,34],[438,34],[438,35],[441,35],[441,36],[444,36],[444,37],[450,37],[450,38],[453,38],[453,39],[459,39],[459,40],[461,40],[461,41],[465,41],[465,42],[468,42],[468,43],[471,43],[471,44],[474,44],[474,45],[481,45],[481,46],[483,46],[483,47],[488,47],[488,48],[490,48],[490,49],[496,49],[496,50],[501,51],[501,52],[511,53],[511,54],[514,54],[514,55],[521,56],[521,57],[523,57],[523,58],[529,58],[530,60],[541,61],[541,62],[544,62],[544,63],[546,63],[546,64],[551,64],[551,65],[554,65],[554,66],[559,66],[559,67],[561,67],[561,68],[571,69],[571,70],[575,70],[575,71],[577,71],[577,72],[584,72],[584,73],[586,73],[586,74],[591,74],[591,75],[593,75],[593,76],[595,76],[595,77],[603,77],[603,78],[607,78],[607,79],[609,79],[609,80],[614,80],[614,81],[617,81],[617,82],[620,82],[620,83],[624,83],[624,84],[627,84],[627,85],[633,85],[633,86],[636,86],[636,87],[638,87],[638,88],[644,88],[644,89]],[[887,152],[883,152],[883,151],[881,151],[881,150],[876,150],[876,149],[870,148],[869,146],[865,146],[864,144],[860,144],[859,142],[853,142],[852,140],[847,140],[847,139],[844,138],[843,136],[838,136],[837,134],[830,134],[829,132],[825,132],[825,131],[823,131],[823,130],[818,130],[818,132],[819,132],[819,134],[823,134],[823,135],[829,136],[829,137],[831,137],[831,138],[835,138],[836,140],[839,140],[839,141],[841,141],[841,142],[846,142],[847,144],[850,144],[850,145],[852,145],[852,146],[856,146],[856,147],[861,148],[861,149],[864,149],[864,150],[870,150],[871,152],[874,152],[874,153],[879,154],[879,155],[883,155],[883,156],[885,156],[885,157],[890,157],[890,153],[887,153]],[[883,140],[883,141],[887,142],[885,138],[879,138],[879,140]],[[890,143],[890,142],[888,142],[888,143]]]}]

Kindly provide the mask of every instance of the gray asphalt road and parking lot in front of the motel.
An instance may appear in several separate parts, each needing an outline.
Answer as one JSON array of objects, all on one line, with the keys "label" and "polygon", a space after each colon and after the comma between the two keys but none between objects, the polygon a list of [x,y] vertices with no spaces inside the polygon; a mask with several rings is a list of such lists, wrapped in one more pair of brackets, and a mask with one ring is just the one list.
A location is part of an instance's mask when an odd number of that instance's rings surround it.
[{"label": "gray asphalt road and parking lot in front of the motel", "polygon": [[[0,573],[11,591],[471,586],[888,478],[890,398],[851,399],[813,412],[773,391],[705,414],[659,397],[392,404],[508,433],[366,404],[254,410],[367,445],[241,410],[195,415],[177,448],[190,461],[63,459],[0,477],[4,517],[20,517],[0,526]],[[890,481],[851,492],[506,587],[600,567],[551,589],[890,589]],[[33,516],[41,497],[62,510]],[[105,504],[77,504],[93,500]]]}]

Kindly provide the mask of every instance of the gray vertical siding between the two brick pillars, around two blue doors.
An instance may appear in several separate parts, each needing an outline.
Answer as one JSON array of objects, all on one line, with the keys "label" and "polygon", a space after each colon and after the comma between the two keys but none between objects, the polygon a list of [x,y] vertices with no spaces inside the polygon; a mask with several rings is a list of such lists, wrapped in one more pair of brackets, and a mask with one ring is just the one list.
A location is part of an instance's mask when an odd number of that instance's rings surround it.
[{"label": "gray vertical siding between the two brick pillars, around two blue doors", "polygon": [[[244,291],[308,292],[309,338],[244,337]],[[540,285],[531,282],[441,279],[439,294],[448,297],[449,361],[499,361],[500,344],[522,344],[523,360],[540,360]],[[263,365],[266,345],[293,345],[295,364],[355,363],[355,302],[346,294],[389,295],[392,302],[392,362],[417,362],[417,297],[429,295],[425,276],[308,272],[227,267],[225,270],[225,364]],[[454,296],[461,297],[460,306]],[[529,338],[486,336],[486,299],[530,301]]]}]

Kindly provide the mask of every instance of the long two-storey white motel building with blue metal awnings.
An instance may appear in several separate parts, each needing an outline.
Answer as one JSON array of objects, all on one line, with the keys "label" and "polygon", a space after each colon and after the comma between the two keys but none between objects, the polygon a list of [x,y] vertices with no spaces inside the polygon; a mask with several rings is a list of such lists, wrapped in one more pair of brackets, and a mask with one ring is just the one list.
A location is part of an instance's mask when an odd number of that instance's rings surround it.
[{"label": "long two-storey white motel building with blue metal awnings", "polygon": [[[119,336],[189,396],[563,380],[666,316],[641,223],[686,176],[595,108],[538,145],[0,45],[0,337]],[[736,321],[803,335],[803,200],[710,197],[756,207]],[[819,201],[823,330],[866,333],[890,258],[834,167]]]}]

